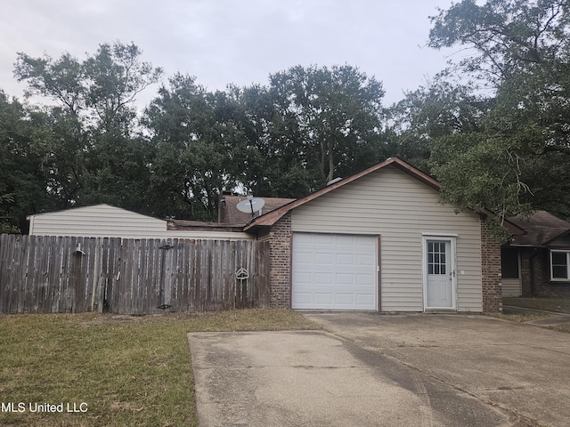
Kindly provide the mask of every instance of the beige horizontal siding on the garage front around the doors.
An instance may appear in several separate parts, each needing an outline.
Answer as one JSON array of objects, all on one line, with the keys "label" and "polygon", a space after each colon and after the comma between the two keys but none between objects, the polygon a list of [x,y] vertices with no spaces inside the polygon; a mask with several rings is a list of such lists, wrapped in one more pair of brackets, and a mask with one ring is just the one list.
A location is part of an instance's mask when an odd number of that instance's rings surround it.
[{"label": "beige horizontal siding on the garage front around the doors", "polygon": [[422,233],[457,235],[457,310],[480,312],[479,219],[454,211],[436,189],[387,166],[297,207],[291,229],[380,235],[383,311],[423,310]]}]

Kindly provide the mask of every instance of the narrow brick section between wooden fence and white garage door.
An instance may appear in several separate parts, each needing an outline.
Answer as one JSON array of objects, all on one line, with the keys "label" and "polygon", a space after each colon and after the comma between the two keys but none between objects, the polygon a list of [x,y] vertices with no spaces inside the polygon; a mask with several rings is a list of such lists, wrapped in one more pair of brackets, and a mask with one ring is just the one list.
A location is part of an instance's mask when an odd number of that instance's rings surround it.
[{"label": "narrow brick section between wooden fence and white garage door", "polygon": [[268,235],[271,307],[291,308],[291,213],[275,222]]}]

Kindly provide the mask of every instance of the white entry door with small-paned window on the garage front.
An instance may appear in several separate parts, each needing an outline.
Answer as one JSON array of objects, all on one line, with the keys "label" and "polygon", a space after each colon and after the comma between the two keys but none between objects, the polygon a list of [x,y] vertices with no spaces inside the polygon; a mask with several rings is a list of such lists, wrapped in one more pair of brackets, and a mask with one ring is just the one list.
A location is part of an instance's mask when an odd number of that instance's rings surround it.
[{"label": "white entry door with small-paned window on the garage front", "polygon": [[455,309],[455,240],[424,239],[426,309]]}]

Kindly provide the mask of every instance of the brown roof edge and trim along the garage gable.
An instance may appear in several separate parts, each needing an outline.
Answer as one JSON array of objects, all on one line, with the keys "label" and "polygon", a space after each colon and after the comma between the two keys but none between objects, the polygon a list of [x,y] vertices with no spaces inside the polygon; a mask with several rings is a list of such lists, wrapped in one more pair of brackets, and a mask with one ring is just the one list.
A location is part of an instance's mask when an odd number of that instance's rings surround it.
[{"label": "brown roof edge and trim along the garage gable", "polygon": [[305,197],[297,198],[297,200],[293,200],[293,201],[289,202],[287,205],[282,205],[281,207],[273,210],[272,212],[258,216],[256,219],[249,222],[244,227],[243,230],[247,231],[247,230],[252,229],[256,226],[273,225],[275,222],[279,221],[279,219],[284,214],[287,214],[291,209],[295,209],[296,207],[298,207],[300,205],[305,205],[305,203],[310,202],[311,200],[314,200],[317,197],[321,197],[322,195],[327,194],[334,189],[338,189],[338,188],[340,188],[340,187],[342,187],[342,186],[344,186],[344,185],[346,185],[352,181],[358,180],[359,178],[361,178],[364,175],[368,175],[369,173],[378,171],[379,169],[382,169],[382,168],[387,167],[387,166],[393,166],[393,167],[396,167],[399,170],[403,171],[404,173],[408,173],[413,178],[417,179],[418,181],[423,182],[424,184],[428,185],[428,187],[431,187],[432,189],[440,190],[442,188],[441,184],[438,181],[436,181],[434,178],[429,176],[428,174],[419,171],[419,169],[416,169],[412,165],[407,164],[406,162],[404,162],[403,160],[400,160],[397,157],[389,157],[386,160],[384,160],[383,162],[379,163],[378,165],[373,165],[373,166],[369,167],[368,169],[364,169],[363,171],[361,171],[359,173],[354,173],[354,175],[348,176],[348,177],[346,177],[340,181],[336,181],[336,182],[334,182],[334,183],[332,183],[332,184],[330,184],[330,185],[328,185],[322,189],[315,191],[314,193],[311,193]]}]

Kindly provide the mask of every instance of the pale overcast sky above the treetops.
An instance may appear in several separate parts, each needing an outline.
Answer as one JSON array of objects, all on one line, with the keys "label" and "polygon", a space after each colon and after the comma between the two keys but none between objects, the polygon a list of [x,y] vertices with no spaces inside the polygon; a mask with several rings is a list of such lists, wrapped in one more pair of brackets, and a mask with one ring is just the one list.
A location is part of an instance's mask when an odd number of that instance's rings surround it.
[{"label": "pale overcast sky above the treetops", "polygon": [[[134,42],[142,60],[197,77],[210,91],[265,85],[296,65],[349,64],[382,81],[385,105],[445,67],[426,46],[429,16],[452,0],[9,0],[0,14],[0,88],[20,97],[17,52],[79,60]],[[150,101],[155,90],[145,95]]]}]

